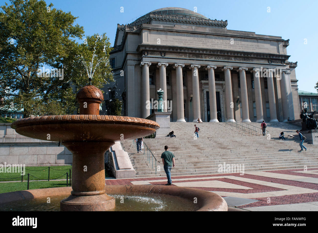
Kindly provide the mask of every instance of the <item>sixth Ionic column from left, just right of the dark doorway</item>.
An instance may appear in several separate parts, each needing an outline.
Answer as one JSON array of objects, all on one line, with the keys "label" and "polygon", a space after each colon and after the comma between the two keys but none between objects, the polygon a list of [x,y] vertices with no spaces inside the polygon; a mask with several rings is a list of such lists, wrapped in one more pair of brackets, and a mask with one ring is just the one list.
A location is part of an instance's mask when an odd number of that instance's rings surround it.
[{"label": "sixth Ionic column from left, just right of the dark doorway", "polygon": [[227,120],[235,122],[234,120],[234,103],[232,96],[232,80],[231,80],[231,71],[233,70],[232,66],[224,66],[224,75],[225,75],[225,109]]}]

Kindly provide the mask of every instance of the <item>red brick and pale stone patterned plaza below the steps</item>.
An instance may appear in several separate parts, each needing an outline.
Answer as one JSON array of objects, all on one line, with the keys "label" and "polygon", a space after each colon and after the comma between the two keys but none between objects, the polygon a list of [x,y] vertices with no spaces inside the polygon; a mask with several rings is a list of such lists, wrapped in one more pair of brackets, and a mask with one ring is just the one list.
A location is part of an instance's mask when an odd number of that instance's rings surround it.
[{"label": "red brick and pale stone patterned plaza below the steps", "polygon": [[[164,185],[166,177],[107,179],[107,184]],[[172,177],[172,185],[221,195],[229,210],[318,211],[318,167]],[[235,208],[232,208],[235,207]]]}]

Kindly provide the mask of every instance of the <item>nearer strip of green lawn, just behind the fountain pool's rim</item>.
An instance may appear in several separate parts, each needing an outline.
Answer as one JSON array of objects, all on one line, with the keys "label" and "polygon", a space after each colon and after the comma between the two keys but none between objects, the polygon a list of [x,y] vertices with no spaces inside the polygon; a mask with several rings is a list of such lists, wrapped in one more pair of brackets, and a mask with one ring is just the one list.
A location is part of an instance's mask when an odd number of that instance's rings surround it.
[{"label": "nearer strip of green lawn, just behind the fountain pool's rim", "polygon": [[[68,181],[68,185],[70,185],[70,181]],[[32,181],[32,182],[29,182],[29,189],[54,188],[54,187],[66,187],[66,181]],[[0,193],[26,190],[27,188],[28,188],[28,182],[0,183]]]}]

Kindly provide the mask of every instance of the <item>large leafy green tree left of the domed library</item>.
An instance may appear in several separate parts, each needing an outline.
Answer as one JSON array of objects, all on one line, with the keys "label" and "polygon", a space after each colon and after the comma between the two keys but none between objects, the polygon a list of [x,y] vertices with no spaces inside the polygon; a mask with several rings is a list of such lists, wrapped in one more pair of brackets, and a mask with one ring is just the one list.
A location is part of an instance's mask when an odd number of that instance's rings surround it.
[{"label": "large leafy green tree left of the domed library", "polygon": [[77,108],[75,93],[88,82],[85,61],[92,57],[93,84],[101,87],[112,80],[106,61],[111,48],[105,34],[79,44],[76,39],[82,39],[84,30],[73,25],[77,17],[70,12],[57,10],[52,3],[46,6],[43,0],[11,3],[0,12],[2,110],[13,102],[15,109],[24,109],[24,117],[72,114]]}]

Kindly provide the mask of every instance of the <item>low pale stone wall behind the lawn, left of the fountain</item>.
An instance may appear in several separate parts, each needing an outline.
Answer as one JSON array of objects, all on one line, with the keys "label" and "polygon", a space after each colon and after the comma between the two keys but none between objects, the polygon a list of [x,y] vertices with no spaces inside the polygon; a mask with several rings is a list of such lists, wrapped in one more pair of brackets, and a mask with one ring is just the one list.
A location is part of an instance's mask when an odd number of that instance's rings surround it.
[{"label": "low pale stone wall behind the lawn, left of the fountain", "polygon": [[58,142],[17,134],[11,123],[0,123],[0,164],[72,164],[72,153]]}]

